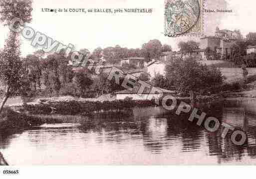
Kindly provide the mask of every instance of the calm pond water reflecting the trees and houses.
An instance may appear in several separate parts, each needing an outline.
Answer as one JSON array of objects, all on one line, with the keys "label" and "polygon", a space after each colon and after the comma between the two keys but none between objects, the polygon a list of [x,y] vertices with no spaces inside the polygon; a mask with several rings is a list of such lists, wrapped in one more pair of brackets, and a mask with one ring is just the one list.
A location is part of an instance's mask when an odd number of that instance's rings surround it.
[{"label": "calm pond water reflecting the trees and houses", "polygon": [[212,114],[248,140],[232,144],[222,130],[208,132],[161,108],[98,116],[85,124],[45,124],[0,138],[9,165],[256,164],[255,100],[233,101]]}]

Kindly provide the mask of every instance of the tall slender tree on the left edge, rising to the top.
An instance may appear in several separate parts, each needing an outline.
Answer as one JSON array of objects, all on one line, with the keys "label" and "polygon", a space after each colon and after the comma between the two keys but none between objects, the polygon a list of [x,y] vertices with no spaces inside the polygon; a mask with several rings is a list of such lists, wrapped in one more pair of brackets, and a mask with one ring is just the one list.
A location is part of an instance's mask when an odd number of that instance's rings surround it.
[{"label": "tall slender tree on the left edge, rising to the top", "polygon": [[[10,24],[13,18],[20,18],[24,23],[30,22],[32,1],[31,0],[0,0],[0,21],[3,25]],[[14,24],[18,28],[19,24]],[[5,41],[3,52],[0,55],[0,78],[5,86],[4,97],[0,104],[0,112],[9,96],[20,93],[21,89],[21,60],[19,41],[16,32],[10,31]]]}]

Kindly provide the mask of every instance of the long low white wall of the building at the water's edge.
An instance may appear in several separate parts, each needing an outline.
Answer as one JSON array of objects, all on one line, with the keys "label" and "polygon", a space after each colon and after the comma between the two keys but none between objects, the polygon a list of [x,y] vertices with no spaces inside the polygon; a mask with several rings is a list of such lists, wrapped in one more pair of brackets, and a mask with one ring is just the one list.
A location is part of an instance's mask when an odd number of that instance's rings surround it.
[{"label": "long low white wall of the building at the water's edge", "polygon": [[125,99],[126,97],[132,98],[133,100],[152,100],[153,98],[159,99],[161,94],[116,94],[117,100]]}]

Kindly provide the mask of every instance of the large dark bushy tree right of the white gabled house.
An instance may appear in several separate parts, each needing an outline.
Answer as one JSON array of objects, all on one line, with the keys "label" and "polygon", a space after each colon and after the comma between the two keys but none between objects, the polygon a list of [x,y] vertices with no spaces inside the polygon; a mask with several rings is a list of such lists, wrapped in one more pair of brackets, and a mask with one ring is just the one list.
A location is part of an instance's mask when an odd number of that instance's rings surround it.
[{"label": "large dark bushy tree right of the white gabled house", "polygon": [[177,59],[166,66],[166,78],[172,81],[179,91],[188,94],[204,88],[220,85],[223,76],[220,69],[201,64],[195,58]]}]

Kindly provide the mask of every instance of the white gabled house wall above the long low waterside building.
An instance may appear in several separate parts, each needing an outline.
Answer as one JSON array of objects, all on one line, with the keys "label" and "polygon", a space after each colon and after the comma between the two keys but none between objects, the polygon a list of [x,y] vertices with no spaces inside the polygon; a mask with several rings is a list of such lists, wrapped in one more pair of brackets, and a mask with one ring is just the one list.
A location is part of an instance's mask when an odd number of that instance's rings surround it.
[{"label": "white gabled house wall above the long low waterside building", "polygon": [[156,74],[165,75],[166,62],[162,60],[156,60],[148,64],[147,69],[151,78],[154,78]]}]

